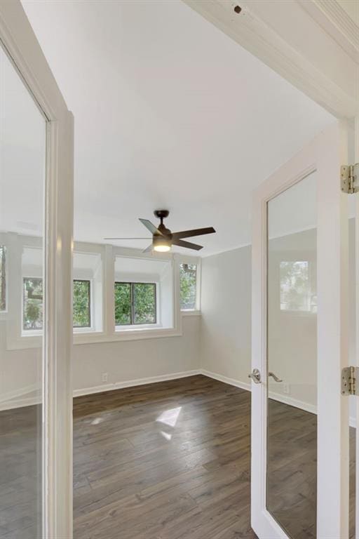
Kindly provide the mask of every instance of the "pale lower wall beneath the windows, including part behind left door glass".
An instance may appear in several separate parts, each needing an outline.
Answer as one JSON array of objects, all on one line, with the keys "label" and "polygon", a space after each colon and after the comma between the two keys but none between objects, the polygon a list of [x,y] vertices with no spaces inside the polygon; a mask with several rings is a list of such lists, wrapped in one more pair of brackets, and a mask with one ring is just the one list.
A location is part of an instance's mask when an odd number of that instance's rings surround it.
[{"label": "pale lower wall beneath the windows, including part behind left door glass", "polygon": [[[200,317],[184,316],[178,337],[74,345],[75,394],[198,370],[200,322]],[[0,410],[38,400],[41,349],[7,350],[5,321],[0,321],[0,357]],[[107,373],[107,382],[102,382],[102,373]]]}]

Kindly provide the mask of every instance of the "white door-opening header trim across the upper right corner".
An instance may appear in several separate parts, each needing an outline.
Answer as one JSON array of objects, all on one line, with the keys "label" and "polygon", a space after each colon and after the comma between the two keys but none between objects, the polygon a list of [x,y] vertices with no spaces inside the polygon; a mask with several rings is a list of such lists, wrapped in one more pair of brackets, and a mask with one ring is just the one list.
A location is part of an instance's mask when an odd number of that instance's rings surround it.
[{"label": "white door-opening header trim across the upper right corner", "polygon": [[322,6],[327,0],[240,0],[240,14],[233,1],[183,1],[335,117],[358,114],[356,25],[337,1],[327,7],[332,19]]}]

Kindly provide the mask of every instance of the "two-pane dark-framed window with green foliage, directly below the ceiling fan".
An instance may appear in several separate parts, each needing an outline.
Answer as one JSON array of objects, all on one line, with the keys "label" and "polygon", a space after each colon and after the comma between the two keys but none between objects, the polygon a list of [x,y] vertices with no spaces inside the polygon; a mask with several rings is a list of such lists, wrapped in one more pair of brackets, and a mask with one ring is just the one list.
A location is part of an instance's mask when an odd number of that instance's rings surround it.
[{"label": "two-pane dark-framed window with green foliage, directly below the ceiling fan", "polygon": [[115,324],[156,324],[156,284],[115,282]]}]

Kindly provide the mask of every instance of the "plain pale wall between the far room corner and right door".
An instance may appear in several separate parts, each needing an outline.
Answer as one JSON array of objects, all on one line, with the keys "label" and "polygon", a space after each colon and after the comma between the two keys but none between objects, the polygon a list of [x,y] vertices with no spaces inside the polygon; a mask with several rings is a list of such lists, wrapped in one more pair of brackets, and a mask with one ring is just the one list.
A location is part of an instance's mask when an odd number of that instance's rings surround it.
[{"label": "plain pale wall between the far room corner and right door", "polygon": [[251,249],[202,260],[201,368],[248,382],[251,339]]}]

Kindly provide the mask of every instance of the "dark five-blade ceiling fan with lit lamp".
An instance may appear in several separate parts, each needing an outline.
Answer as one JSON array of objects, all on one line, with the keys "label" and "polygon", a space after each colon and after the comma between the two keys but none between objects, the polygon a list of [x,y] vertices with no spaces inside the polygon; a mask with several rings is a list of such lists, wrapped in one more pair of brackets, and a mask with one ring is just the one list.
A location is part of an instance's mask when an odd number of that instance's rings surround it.
[{"label": "dark five-blade ceiling fan with lit lamp", "polygon": [[[161,220],[158,228],[155,227],[148,219],[140,219],[142,224],[152,233],[152,243],[146,249],[144,253],[151,251],[158,251],[159,253],[165,253],[170,251],[172,245],[179,247],[185,247],[187,249],[195,249],[199,251],[203,246],[197,244],[191,244],[189,241],[182,241],[182,238],[191,238],[193,236],[202,236],[203,234],[213,234],[215,229],[213,227],[207,228],[195,228],[193,230],[183,230],[182,232],[171,232],[169,228],[163,225],[163,219],[170,215],[168,210],[156,210],[154,215]],[[104,238],[104,239],[148,239],[148,238]]]}]

